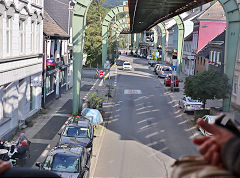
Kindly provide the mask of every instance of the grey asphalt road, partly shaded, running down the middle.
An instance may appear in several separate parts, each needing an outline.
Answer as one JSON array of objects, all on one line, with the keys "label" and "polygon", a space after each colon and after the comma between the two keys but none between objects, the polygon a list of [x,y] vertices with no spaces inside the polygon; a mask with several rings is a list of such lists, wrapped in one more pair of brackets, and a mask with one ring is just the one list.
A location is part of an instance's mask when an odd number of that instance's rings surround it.
[{"label": "grey asphalt road, partly shaded, running down the middle", "polygon": [[174,159],[197,154],[191,132],[147,61],[121,58],[134,69],[119,67],[115,106],[94,177],[169,177]]}]

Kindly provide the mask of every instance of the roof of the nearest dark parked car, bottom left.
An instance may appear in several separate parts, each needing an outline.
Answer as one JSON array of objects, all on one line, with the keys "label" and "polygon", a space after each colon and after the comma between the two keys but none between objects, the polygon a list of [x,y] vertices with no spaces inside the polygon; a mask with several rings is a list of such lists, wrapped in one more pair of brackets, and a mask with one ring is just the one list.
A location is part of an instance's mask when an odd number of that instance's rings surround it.
[{"label": "roof of the nearest dark parked car, bottom left", "polygon": [[81,156],[83,152],[83,147],[79,145],[60,145],[57,147],[54,147],[51,151],[51,155],[55,154],[65,154],[69,156]]}]

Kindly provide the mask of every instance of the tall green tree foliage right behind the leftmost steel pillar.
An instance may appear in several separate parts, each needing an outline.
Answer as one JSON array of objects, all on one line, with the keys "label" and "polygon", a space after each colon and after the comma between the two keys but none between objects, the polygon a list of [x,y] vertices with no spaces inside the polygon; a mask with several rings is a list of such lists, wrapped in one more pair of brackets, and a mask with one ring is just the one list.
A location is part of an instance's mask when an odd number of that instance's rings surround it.
[{"label": "tall green tree foliage right behind the leftmost steel pillar", "polygon": [[84,53],[88,54],[86,65],[101,66],[102,21],[107,13],[102,4],[105,0],[93,0],[87,13]]}]

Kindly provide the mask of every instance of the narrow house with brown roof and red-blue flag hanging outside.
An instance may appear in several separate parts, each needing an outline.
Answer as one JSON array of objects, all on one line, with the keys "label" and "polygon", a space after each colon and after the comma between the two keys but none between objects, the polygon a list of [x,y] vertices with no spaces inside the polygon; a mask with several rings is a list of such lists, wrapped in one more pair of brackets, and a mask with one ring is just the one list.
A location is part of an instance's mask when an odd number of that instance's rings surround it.
[{"label": "narrow house with brown roof and red-blue flag hanging outside", "polygon": [[61,97],[72,87],[69,35],[44,11],[43,104]]}]

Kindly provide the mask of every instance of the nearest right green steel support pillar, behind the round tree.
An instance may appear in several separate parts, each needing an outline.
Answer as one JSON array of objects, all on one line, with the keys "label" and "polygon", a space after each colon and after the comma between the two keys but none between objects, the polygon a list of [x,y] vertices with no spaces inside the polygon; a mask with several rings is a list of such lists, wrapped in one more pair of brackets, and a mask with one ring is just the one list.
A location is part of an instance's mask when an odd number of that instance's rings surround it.
[{"label": "nearest right green steel support pillar, behind the round tree", "polygon": [[[225,38],[224,73],[228,76],[229,84],[233,85],[235,62],[238,51],[240,33],[240,13],[236,0],[219,0],[226,14],[227,28]],[[223,110],[230,110],[231,94],[223,102]]]}]

